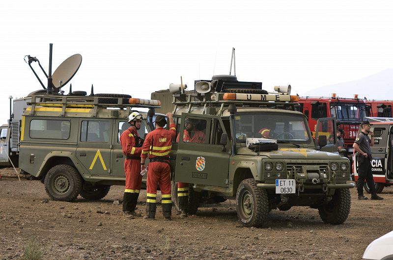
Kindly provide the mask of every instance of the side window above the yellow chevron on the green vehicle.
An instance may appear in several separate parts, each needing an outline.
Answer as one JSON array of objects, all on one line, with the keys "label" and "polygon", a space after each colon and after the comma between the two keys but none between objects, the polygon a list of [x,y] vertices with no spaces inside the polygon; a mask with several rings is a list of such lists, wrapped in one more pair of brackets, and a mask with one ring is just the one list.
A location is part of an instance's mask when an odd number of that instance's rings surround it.
[{"label": "side window above the yellow chevron on the green vehicle", "polygon": [[109,121],[82,121],[81,141],[82,142],[108,142],[110,140]]}]

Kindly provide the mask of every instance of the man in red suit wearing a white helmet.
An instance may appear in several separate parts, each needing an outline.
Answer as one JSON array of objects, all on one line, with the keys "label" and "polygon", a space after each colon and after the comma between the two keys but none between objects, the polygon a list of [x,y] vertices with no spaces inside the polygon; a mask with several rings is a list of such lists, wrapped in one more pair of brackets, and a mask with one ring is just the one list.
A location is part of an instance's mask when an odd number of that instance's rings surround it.
[{"label": "man in red suit wearing a white helmet", "polygon": [[142,153],[143,139],[140,138],[138,130],[140,130],[142,115],[138,112],[132,112],[128,116],[130,128],[120,135],[120,144],[123,154],[126,156],[124,160],[124,171],[126,174],[126,187],[123,197],[123,215],[128,218],[140,216],[135,212],[137,207],[138,196],[142,183],[140,175],[140,154]]}]

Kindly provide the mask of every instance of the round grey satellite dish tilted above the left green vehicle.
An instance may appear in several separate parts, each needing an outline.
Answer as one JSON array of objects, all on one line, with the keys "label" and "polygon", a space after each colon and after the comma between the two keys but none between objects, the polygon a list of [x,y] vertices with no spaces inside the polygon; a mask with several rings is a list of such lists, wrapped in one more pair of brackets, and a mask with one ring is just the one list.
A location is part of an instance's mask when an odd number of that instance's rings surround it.
[{"label": "round grey satellite dish tilted above the left green vehicle", "polygon": [[52,82],[55,89],[63,87],[77,73],[82,63],[82,55],[74,54],[64,60],[52,75]]}]

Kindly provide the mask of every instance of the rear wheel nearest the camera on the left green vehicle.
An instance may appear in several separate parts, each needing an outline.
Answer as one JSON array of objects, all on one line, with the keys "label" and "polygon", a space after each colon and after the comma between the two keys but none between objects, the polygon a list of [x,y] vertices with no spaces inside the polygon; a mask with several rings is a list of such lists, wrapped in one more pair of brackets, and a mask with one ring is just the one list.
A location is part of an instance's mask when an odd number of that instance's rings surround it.
[{"label": "rear wheel nearest the camera on the left green vehicle", "polygon": [[45,176],[46,193],[55,201],[73,201],[82,190],[82,178],[72,166],[59,164]]}]

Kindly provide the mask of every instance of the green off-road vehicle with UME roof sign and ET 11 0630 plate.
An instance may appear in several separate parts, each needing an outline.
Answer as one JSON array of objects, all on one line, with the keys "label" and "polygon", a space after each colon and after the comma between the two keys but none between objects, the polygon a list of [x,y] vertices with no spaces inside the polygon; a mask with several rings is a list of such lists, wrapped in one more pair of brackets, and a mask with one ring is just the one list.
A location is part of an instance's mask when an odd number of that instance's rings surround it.
[{"label": "green off-road vehicle with UME roof sign and ET 11 0630 plate", "polygon": [[[246,227],[261,227],[270,210],[293,206],[318,209],[326,223],[347,219],[354,184],[347,183],[348,159],[337,154],[335,140],[327,141],[336,136],[334,118],[320,119],[313,138],[306,116],[294,111],[298,97],[290,86],[268,93],[260,82],[228,75],[196,83],[194,92],[167,93],[174,94],[179,132],[170,157],[173,182],[190,183],[189,213],[203,201],[235,198]],[[172,198],[178,207],[176,192]]]}]

